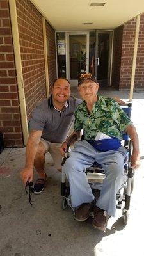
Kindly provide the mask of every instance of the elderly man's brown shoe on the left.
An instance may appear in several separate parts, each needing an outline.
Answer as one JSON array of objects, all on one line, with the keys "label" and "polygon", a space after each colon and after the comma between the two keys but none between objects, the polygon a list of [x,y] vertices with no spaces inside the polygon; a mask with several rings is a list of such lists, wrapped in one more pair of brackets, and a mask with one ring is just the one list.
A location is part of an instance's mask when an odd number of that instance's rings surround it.
[{"label": "elderly man's brown shoe on the left", "polygon": [[75,212],[75,219],[77,221],[85,221],[89,218],[90,212],[93,209],[93,202],[92,203],[83,203],[81,204]]}]

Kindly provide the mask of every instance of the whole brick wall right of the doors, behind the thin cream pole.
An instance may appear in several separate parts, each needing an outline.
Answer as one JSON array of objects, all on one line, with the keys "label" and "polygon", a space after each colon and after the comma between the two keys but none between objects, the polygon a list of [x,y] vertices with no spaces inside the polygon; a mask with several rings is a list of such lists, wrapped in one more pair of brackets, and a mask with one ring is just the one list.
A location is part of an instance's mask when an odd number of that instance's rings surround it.
[{"label": "whole brick wall right of the doors, behind the thin cream pole", "polygon": [[[122,34],[123,31],[123,34]],[[115,29],[113,51],[112,86],[117,89],[129,90],[131,86],[132,61],[134,54],[134,40],[136,33],[136,19],[125,23]],[[119,45],[121,46],[121,49]],[[140,19],[140,32],[138,39],[138,52],[136,59],[136,73],[134,89],[144,89],[144,14]]]}]

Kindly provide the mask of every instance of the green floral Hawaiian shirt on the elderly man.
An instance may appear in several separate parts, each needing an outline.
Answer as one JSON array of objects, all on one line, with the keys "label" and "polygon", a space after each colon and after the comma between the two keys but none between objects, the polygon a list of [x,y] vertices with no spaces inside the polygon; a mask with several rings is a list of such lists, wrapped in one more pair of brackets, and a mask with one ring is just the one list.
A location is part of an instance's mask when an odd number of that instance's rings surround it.
[{"label": "green floral Hawaiian shirt on the elderly man", "polygon": [[84,139],[94,140],[97,132],[122,139],[122,131],[132,124],[115,100],[97,95],[98,100],[88,111],[86,102],[79,104],[75,111],[74,131],[84,129]]}]

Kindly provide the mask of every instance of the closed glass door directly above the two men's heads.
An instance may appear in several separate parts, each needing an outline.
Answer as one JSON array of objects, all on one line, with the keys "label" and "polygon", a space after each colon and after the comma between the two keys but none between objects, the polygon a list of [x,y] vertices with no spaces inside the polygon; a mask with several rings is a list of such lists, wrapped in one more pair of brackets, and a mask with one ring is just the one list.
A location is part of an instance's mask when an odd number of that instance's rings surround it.
[{"label": "closed glass door directly above the two men's heads", "polygon": [[88,72],[88,32],[68,33],[68,79],[72,86],[77,85],[77,77]]}]

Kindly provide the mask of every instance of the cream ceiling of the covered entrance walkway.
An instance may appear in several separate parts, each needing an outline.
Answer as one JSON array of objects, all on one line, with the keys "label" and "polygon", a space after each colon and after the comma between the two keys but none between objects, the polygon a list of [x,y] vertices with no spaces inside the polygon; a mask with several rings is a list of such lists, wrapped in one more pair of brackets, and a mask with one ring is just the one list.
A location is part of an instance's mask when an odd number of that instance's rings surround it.
[{"label": "cream ceiling of the covered entrance walkway", "polygon": [[[144,0],[31,0],[56,31],[113,29],[144,12]],[[91,7],[90,3],[106,3]],[[93,22],[92,25],[83,25]]]}]

